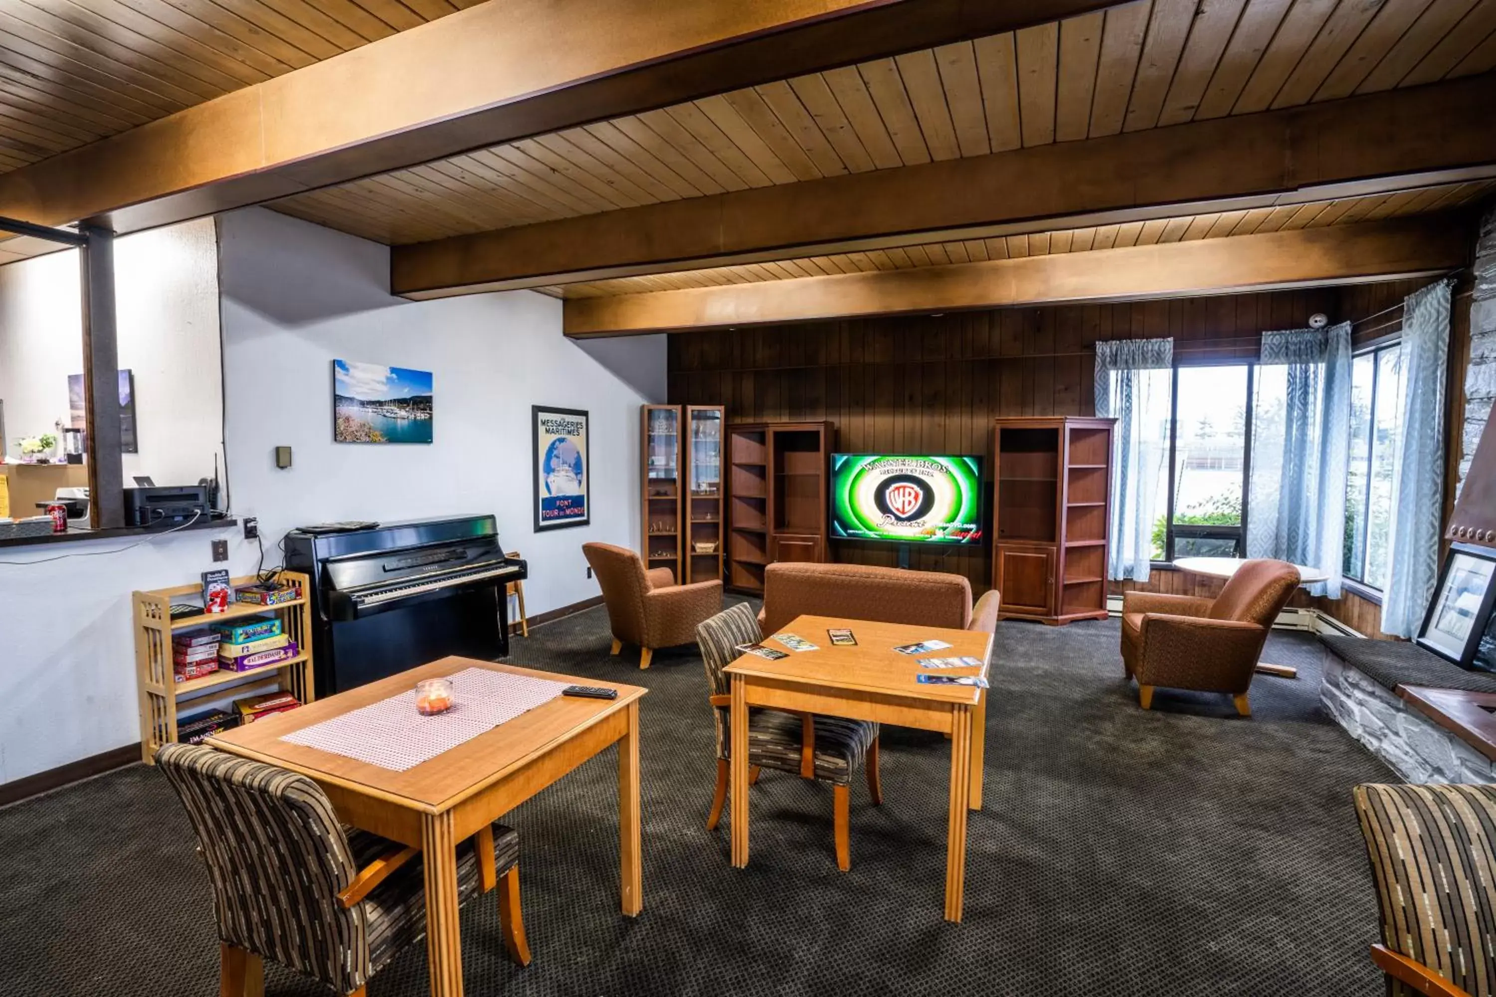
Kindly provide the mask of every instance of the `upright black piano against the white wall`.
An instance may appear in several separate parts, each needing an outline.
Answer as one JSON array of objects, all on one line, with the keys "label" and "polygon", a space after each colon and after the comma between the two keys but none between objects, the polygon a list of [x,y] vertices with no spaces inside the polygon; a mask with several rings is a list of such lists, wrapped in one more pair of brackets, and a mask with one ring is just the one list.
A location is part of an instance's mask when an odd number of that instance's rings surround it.
[{"label": "upright black piano against the white wall", "polygon": [[286,567],[313,580],[319,697],[447,655],[509,653],[504,586],[527,567],[504,556],[492,516],[308,531],[286,534]]}]

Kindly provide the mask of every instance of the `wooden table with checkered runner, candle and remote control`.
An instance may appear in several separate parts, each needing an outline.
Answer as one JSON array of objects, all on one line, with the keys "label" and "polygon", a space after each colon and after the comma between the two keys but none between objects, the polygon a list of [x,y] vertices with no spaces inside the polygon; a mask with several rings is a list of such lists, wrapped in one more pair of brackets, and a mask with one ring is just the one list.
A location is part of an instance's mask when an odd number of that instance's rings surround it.
[{"label": "wooden table with checkered runner, candle and remote control", "polygon": [[[410,691],[423,679],[491,668],[568,685],[609,686],[615,700],[557,697],[405,771],[281,740],[286,734]],[[456,846],[568,771],[618,744],[618,854],[622,910],[643,907],[639,816],[639,686],[443,658],[208,738],[244,758],[313,779],[338,818],[422,849],[432,997],[462,997]],[[461,697],[461,691],[458,692]]]}]

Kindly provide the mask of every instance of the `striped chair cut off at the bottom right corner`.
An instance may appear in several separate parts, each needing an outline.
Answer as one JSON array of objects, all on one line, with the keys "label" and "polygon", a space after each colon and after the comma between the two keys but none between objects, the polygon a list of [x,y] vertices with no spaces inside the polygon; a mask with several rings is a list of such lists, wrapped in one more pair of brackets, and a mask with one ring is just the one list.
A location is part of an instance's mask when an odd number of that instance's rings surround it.
[{"label": "striped chair cut off at the bottom right corner", "polygon": [[1496,786],[1355,788],[1391,997],[1496,994]]}]

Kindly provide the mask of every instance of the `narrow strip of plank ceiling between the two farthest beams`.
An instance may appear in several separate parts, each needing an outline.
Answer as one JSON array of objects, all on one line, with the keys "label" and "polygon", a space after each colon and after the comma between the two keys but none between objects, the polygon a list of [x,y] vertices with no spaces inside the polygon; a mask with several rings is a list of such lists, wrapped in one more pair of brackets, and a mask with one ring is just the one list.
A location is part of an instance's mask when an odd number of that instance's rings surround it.
[{"label": "narrow strip of plank ceiling between the two farthest beams", "polygon": [[835,256],[749,263],[745,266],[624,277],[606,281],[539,287],[536,290],[554,297],[567,299],[612,297],[615,294],[639,294],[679,290],[684,287],[754,284],[797,277],[904,271],[922,266],[974,263],[978,260],[1011,260],[1053,253],[1085,253],[1088,250],[1110,250],[1129,245],[1221,239],[1227,236],[1316,229],[1331,224],[1352,224],[1357,221],[1376,221],[1379,218],[1400,218],[1448,211],[1477,202],[1493,191],[1496,191],[1496,181],[1444,184],[1370,197],[1345,197],[1340,200],[1293,203],[1278,208],[1255,208],[1252,211],[1182,215],[1177,218],[1129,221],[1125,224],[1067,229],[1061,232],[1035,232],[993,239],[926,242],[889,250],[869,250],[866,253],[841,253]]}]

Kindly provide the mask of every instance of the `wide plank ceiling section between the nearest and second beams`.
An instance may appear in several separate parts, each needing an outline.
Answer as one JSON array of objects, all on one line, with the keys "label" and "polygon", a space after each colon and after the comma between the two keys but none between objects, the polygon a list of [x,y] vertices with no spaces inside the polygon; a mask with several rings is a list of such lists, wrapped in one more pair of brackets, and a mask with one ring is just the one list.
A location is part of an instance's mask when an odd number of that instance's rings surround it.
[{"label": "wide plank ceiling section between the nearest and second beams", "polygon": [[272,206],[398,245],[1302,106],[1492,69],[1496,0],[1135,0],[480,149]]}]

